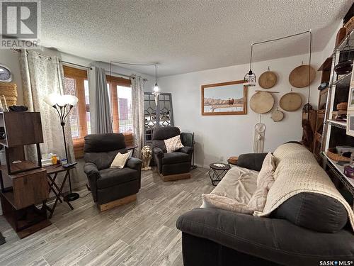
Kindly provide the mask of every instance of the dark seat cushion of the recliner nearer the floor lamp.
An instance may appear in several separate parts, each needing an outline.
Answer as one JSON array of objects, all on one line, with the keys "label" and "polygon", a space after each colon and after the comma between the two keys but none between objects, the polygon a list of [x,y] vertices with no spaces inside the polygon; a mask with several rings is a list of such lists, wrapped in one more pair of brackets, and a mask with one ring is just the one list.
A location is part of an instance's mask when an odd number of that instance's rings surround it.
[{"label": "dark seat cushion of the recliner nearer the floor lamp", "polygon": [[137,170],[130,168],[108,168],[100,171],[101,177],[97,179],[98,189],[113,187],[118,184],[136,180],[139,178]]}]

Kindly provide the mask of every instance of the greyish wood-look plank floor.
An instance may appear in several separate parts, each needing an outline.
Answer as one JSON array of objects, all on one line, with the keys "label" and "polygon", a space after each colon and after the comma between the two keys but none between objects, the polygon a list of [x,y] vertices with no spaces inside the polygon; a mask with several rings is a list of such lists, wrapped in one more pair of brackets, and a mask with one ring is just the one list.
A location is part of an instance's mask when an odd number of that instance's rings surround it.
[{"label": "greyish wood-look plank floor", "polygon": [[207,170],[191,173],[191,179],[162,182],[156,172],[142,172],[137,201],[101,213],[81,190],[74,211],[59,204],[52,226],[22,240],[0,216],[6,237],[0,265],[183,265],[176,219],[214,188]]}]

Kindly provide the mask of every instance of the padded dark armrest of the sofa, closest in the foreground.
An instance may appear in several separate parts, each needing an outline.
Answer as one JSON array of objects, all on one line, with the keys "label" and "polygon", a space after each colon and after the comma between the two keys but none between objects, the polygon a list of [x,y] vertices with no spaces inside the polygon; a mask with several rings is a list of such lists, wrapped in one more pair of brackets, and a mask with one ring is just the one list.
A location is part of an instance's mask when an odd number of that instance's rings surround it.
[{"label": "padded dark armrest of the sofa, closest in the foreground", "polygon": [[221,209],[193,209],[180,216],[176,226],[183,233],[280,265],[319,265],[326,256],[331,260],[354,256],[354,247],[348,246],[353,243],[352,231],[321,233],[285,219]]}]

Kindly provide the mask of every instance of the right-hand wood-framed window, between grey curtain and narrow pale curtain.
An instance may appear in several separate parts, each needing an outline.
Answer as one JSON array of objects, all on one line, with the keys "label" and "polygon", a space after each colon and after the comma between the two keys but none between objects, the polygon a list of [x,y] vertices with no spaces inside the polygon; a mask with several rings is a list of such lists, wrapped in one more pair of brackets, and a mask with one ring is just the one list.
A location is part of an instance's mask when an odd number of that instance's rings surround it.
[{"label": "right-hand wood-framed window, between grey curtain and narrow pale curtain", "polygon": [[132,87],[130,79],[107,76],[113,132],[132,133]]}]

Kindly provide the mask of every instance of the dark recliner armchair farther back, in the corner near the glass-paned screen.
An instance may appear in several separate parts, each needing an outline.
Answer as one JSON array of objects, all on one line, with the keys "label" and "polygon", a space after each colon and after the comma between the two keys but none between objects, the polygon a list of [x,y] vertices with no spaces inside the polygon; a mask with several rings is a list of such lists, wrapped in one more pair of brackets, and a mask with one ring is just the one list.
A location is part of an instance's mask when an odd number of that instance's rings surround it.
[{"label": "dark recliner armchair farther back, in the corner near the glass-paned screen", "polygon": [[[181,135],[183,148],[167,153],[164,140]],[[164,181],[190,178],[190,166],[193,154],[193,143],[190,133],[181,133],[179,128],[169,126],[155,128],[152,135],[152,147],[157,172]]]}]

